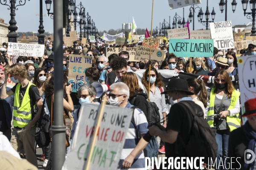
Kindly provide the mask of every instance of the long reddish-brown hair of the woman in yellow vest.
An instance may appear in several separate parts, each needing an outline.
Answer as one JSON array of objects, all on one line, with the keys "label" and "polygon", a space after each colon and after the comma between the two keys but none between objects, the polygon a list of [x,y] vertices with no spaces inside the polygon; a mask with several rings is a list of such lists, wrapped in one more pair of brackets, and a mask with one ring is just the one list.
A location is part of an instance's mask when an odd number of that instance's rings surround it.
[{"label": "long reddish-brown hair of the woman in yellow vest", "polygon": [[[216,73],[215,79],[216,79],[216,77],[218,77],[218,75],[221,75],[221,77],[222,77],[222,78],[225,80],[225,82],[227,83],[227,87],[226,87],[226,89],[225,89],[225,92],[226,92],[228,98],[230,98],[231,95],[232,95],[232,92],[233,92],[233,90],[235,90],[235,88],[234,88],[234,86],[233,86],[233,83],[231,82],[231,79],[230,79],[229,74],[227,73],[226,70],[220,70],[220,71],[218,71],[218,72]],[[217,83],[217,82],[214,81],[214,84],[213,84],[213,88],[215,88],[215,89],[214,89],[214,93],[215,93],[215,94],[216,94],[217,89],[218,89],[216,83]]]}]

